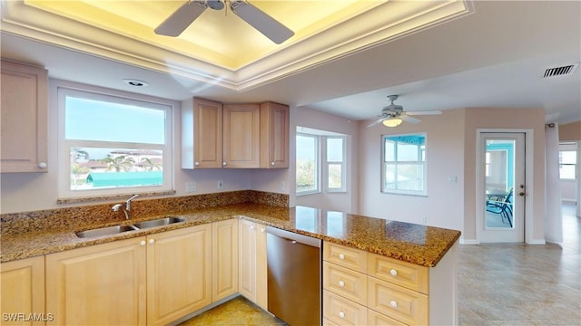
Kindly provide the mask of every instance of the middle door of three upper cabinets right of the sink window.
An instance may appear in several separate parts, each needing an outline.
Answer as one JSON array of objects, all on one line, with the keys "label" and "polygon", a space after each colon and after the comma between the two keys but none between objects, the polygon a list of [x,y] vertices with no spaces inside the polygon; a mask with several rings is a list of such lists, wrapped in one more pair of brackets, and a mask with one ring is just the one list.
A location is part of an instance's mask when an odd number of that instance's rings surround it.
[{"label": "middle door of three upper cabinets right of the sink window", "polygon": [[222,168],[259,168],[261,108],[259,104],[224,104]]}]

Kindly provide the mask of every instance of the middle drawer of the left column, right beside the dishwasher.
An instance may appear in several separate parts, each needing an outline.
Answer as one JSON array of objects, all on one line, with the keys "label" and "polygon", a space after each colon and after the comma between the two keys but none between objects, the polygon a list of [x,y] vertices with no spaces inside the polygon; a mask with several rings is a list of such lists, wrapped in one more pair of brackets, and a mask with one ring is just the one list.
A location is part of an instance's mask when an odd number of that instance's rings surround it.
[{"label": "middle drawer of the left column, right beside the dishwasher", "polygon": [[323,288],[341,296],[367,304],[367,275],[323,262]]}]

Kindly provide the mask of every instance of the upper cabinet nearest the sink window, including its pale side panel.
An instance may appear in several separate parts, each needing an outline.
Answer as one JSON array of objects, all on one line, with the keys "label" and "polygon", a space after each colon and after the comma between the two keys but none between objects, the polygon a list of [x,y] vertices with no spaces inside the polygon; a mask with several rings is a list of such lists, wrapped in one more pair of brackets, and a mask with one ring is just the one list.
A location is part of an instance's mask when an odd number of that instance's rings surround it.
[{"label": "upper cabinet nearest the sink window, including its pale side panel", "polygon": [[222,103],[183,102],[182,168],[222,168]]}]

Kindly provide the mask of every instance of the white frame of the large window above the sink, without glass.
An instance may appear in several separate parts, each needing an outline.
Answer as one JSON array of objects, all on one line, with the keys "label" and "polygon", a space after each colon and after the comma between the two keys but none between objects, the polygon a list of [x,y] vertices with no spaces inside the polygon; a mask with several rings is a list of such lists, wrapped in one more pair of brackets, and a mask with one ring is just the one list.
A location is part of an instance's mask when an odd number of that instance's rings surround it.
[{"label": "white frame of the large window above the sink, without glass", "polygon": [[[176,103],[171,100],[153,98],[151,96],[130,93],[126,91],[114,91],[102,89],[90,85],[82,85],[68,82],[56,82],[55,95],[58,110],[58,195],[59,200],[118,197],[129,196],[136,193],[162,194],[174,192],[173,189],[173,146],[172,146],[172,121]],[[68,96],[84,98],[93,101],[108,101],[119,104],[130,104],[147,109],[163,110],[164,120],[164,144],[146,144],[123,141],[101,140],[77,140],[65,139],[65,102]],[[162,185],[143,187],[110,187],[97,189],[71,189],[70,176],[70,151],[72,148],[103,148],[103,149],[160,149],[162,150]]]}]

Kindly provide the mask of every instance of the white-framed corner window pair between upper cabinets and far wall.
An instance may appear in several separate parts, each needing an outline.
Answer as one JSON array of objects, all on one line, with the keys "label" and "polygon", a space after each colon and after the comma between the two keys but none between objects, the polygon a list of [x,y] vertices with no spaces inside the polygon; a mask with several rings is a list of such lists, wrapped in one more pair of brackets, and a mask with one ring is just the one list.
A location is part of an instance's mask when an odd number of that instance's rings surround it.
[{"label": "white-framed corner window pair between upper cabinets and far wall", "polygon": [[297,129],[297,195],[347,191],[347,137],[318,129]]}]

